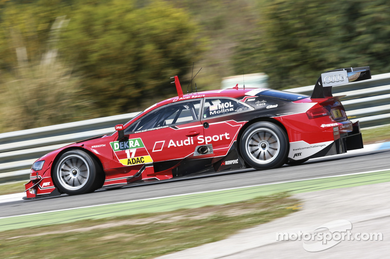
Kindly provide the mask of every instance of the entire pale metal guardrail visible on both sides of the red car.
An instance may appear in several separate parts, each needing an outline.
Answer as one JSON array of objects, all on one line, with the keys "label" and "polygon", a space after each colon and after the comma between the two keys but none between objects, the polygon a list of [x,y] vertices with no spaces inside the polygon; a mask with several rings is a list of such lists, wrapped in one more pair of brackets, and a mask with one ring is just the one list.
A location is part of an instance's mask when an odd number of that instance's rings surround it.
[{"label": "entire pale metal guardrail visible on both sides of the red car", "polygon": [[[314,86],[287,89],[310,95]],[[390,123],[390,73],[372,79],[333,86],[334,96],[341,99],[351,121],[362,128]],[[36,129],[0,134],[0,183],[28,180],[31,165],[40,156],[78,140],[107,134],[114,126],[125,123],[138,113],[128,113],[86,121],[76,121]]]}]

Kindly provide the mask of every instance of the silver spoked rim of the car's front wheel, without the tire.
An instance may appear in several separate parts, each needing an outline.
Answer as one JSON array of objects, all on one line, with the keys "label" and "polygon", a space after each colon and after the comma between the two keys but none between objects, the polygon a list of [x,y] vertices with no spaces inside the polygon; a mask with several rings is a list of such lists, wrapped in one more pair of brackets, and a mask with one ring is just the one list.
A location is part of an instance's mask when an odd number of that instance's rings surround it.
[{"label": "silver spoked rim of the car's front wheel, without the tire", "polygon": [[80,155],[67,155],[59,162],[57,176],[63,188],[79,190],[87,183],[90,168]]}]

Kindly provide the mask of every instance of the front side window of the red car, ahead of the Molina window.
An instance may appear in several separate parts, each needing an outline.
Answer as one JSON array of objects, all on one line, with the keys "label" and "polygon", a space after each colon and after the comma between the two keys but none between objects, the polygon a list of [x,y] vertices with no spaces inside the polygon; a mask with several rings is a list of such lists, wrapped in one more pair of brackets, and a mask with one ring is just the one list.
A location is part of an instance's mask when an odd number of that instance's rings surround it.
[{"label": "front side window of the red car, ahead of the Molina window", "polygon": [[178,123],[197,121],[199,119],[200,104],[200,99],[167,104],[151,111],[149,114],[132,123],[125,130],[125,134],[137,131],[154,130]]}]

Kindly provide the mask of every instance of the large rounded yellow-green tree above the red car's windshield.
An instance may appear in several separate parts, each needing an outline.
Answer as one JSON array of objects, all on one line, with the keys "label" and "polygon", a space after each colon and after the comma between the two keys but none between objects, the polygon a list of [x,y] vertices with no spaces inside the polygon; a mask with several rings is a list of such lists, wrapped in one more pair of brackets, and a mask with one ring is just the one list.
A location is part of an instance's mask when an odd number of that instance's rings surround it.
[{"label": "large rounded yellow-green tree above the red car's windshield", "polygon": [[169,77],[188,72],[201,52],[195,24],[165,1],[79,3],[61,42],[98,116],[172,95]]}]

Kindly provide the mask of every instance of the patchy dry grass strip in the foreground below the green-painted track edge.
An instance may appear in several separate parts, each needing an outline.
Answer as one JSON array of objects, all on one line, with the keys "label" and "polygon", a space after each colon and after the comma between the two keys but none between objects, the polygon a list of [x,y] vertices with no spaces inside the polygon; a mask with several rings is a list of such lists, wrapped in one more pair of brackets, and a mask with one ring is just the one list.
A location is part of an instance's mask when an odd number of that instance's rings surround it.
[{"label": "patchy dry grass strip in the foreground below the green-painted track edge", "polygon": [[282,193],[225,205],[3,231],[0,258],[153,258],[225,239],[300,206]]}]

